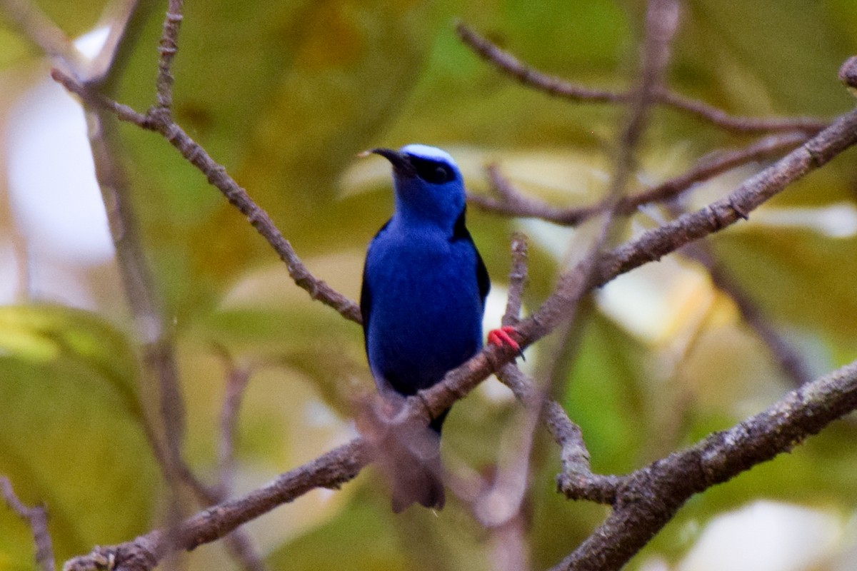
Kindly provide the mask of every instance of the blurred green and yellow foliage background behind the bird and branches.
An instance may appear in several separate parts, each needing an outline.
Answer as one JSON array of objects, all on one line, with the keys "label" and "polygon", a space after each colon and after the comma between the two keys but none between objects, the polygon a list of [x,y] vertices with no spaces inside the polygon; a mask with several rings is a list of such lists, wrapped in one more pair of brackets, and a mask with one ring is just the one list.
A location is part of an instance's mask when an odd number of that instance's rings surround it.
[{"label": "blurred green and yellow foliage background behind the bird and branches", "polygon": [[[153,103],[164,6],[144,2],[123,45],[118,100]],[[105,3],[39,1],[95,53]],[[623,89],[638,64],[644,3],[210,0],[185,8],[175,63],[179,122],[278,223],[316,276],[357,299],[366,244],[392,208],[389,167],[372,146],[441,146],[470,191],[496,162],[525,192],[588,205],[605,192],[623,110],[571,104],[518,85],[462,45],[464,21],[536,68]],[[101,30],[99,32],[99,29]],[[857,2],[688,0],[668,85],[731,113],[833,117],[854,98],[836,80],[857,53]],[[141,334],[128,309],[93,175],[81,109],[50,62],[0,11],[0,474],[45,503],[57,560],[162,524],[168,507],[141,431],[152,413]],[[360,328],[313,302],[273,251],[158,135],[119,128],[118,162],[163,297],[189,414],[184,455],[213,479],[227,370],[250,366],[237,445],[237,493],[355,434],[353,397],[370,390]],[[657,109],[632,190],[680,174],[707,152],[746,144]],[[857,154],[709,240],[718,260],[814,375],[857,358]],[[733,189],[752,164],[694,188],[687,207]],[[626,239],[669,214],[646,208]],[[470,231],[494,280],[499,323],[509,236],[530,236],[525,306],[535,308],[591,228],[559,228],[471,207]],[[558,397],[581,425],[593,468],[626,473],[733,425],[793,388],[769,348],[701,265],[673,255],[598,290],[566,345],[528,351],[538,377],[557,351]],[[447,421],[450,470],[491,473],[519,407],[495,380]],[[767,464],[694,497],[629,568],[857,567],[857,424],[843,419]],[[533,568],[558,562],[606,509],[554,491],[556,449],[537,433],[526,502]],[[393,515],[373,468],[249,524],[271,568],[487,569],[494,544],[466,506]],[[190,569],[231,568],[219,544]],[[0,509],[0,569],[34,567],[29,531]]]}]

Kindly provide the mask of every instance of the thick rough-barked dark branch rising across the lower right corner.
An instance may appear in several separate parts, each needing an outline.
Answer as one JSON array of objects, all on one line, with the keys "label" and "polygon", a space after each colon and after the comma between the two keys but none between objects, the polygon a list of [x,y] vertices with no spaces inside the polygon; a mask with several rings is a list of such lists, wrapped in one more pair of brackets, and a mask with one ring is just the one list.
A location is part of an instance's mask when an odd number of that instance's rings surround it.
[{"label": "thick rough-barked dark branch rising across the lower right corner", "polygon": [[788,452],[857,408],[857,361],[788,393],[728,431],[632,473],[614,511],[553,571],[621,568],[687,498]]}]

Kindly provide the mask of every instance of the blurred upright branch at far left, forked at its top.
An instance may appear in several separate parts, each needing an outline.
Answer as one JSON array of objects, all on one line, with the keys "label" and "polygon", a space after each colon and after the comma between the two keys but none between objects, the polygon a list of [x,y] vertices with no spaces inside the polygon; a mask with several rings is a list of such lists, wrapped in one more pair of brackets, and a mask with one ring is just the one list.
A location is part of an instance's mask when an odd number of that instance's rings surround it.
[{"label": "blurred upright branch at far left, forked at its top", "polygon": [[[112,9],[106,10],[111,12],[111,17],[105,18],[110,25],[107,42],[92,61],[82,57],[59,28],[33,3],[3,0],[0,7],[7,11],[28,38],[54,57],[57,64],[63,65],[74,77],[81,78],[81,82],[95,84],[104,80],[107,74],[116,72],[116,51],[135,9],[134,0],[114,4]],[[177,48],[181,8],[181,2],[171,2],[165,19],[164,38],[161,40],[158,96],[160,106],[165,108],[171,102],[170,67]],[[181,509],[178,507],[182,497],[178,488],[180,483],[189,486],[201,506],[217,503],[226,495],[203,484],[183,461],[184,401],[179,389],[175,354],[165,324],[163,302],[142,252],[138,223],[128,200],[127,177],[114,158],[116,135],[112,123],[105,120],[110,114],[103,108],[84,103],[87,123],[91,126],[88,135],[95,175],[104,198],[108,225],[117,253],[117,266],[135,320],[135,329],[141,339],[145,369],[157,382],[159,389],[164,443],[146,415],[141,417],[142,428],[165,481],[170,486],[171,517],[181,520]],[[261,571],[261,561],[245,534],[233,533],[226,543],[245,568]]]}]

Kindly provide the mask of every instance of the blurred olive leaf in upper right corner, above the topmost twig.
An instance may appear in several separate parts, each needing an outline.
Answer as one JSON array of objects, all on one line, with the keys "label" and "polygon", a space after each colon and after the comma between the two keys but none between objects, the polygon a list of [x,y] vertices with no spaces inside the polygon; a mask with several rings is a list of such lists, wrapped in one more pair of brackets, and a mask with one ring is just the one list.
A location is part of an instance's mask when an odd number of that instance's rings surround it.
[{"label": "blurred olive leaf in upper right corner, above the topmost twig", "polygon": [[680,51],[696,51],[719,75],[728,107],[744,106],[740,113],[828,116],[849,104],[836,71],[851,55],[830,23],[828,11],[811,0],[694,0],[680,44],[687,50]]}]

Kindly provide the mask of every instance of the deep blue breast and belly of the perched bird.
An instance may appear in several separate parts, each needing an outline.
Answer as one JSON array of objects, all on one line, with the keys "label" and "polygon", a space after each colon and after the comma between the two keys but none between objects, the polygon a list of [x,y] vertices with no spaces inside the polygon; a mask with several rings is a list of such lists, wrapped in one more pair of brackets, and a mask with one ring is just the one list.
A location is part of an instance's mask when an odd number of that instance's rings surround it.
[{"label": "deep blue breast and belly of the perched bird", "polygon": [[482,347],[487,273],[469,234],[386,226],[363,279],[366,350],[381,390],[413,395]]}]

